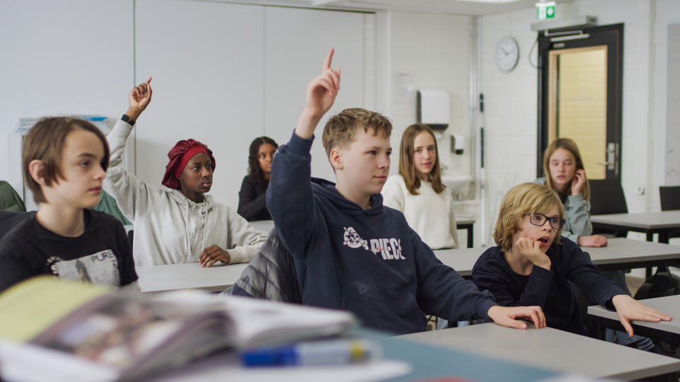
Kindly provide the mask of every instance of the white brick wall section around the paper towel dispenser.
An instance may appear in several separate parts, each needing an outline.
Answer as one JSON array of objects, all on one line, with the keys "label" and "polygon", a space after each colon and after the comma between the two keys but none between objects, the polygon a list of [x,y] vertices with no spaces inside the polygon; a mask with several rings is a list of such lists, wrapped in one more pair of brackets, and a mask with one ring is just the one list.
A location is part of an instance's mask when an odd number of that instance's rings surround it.
[{"label": "white brick wall section around the paper towel dispenser", "polygon": [[[412,75],[415,92],[419,88],[439,88],[450,96],[450,122],[442,139],[438,139],[441,163],[453,175],[474,175],[470,172],[470,57],[472,54],[472,18],[446,13],[390,11],[390,41],[387,57],[390,79],[385,114],[392,118],[392,168],[399,172],[399,142],[404,130],[416,123],[415,95],[410,103],[395,102],[395,75]],[[378,110],[382,112],[382,110]],[[463,155],[450,153],[450,134],[463,134],[466,149]]]}]

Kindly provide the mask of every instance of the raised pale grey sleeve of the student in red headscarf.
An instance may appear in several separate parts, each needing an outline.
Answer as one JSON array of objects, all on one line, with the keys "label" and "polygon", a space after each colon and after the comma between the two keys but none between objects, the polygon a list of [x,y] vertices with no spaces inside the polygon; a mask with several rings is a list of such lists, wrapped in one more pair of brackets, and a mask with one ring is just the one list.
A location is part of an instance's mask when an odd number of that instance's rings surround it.
[{"label": "raised pale grey sleeve of the student in red headscarf", "polygon": [[162,198],[163,190],[152,187],[138,180],[137,177],[123,168],[123,153],[132,132],[128,122],[118,120],[108,134],[111,158],[104,178],[103,189],[115,199],[120,212],[123,212],[132,224],[137,217],[145,214],[150,207]]}]

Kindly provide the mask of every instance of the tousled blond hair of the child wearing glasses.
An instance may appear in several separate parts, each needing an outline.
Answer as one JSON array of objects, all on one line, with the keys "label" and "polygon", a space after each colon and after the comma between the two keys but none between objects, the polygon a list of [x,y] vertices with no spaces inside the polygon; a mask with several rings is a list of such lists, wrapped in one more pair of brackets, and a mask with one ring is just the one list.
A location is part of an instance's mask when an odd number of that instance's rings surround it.
[{"label": "tousled blond hair of the child wearing glasses", "polygon": [[[557,195],[544,185],[535,183],[523,183],[512,187],[503,198],[501,209],[498,212],[498,220],[494,228],[494,240],[503,252],[512,247],[512,236],[521,231],[522,217],[524,214],[548,214],[554,206],[557,206],[560,217],[565,218],[565,206]],[[550,224],[546,222],[546,224]],[[557,231],[555,244],[562,244],[560,238],[562,230]]]}]

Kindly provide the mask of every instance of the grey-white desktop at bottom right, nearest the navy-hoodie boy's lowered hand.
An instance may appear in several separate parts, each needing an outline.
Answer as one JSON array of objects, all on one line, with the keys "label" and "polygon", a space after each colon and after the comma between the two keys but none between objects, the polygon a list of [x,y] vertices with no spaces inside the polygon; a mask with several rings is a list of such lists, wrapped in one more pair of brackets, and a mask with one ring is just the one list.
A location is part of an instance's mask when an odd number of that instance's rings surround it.
[{"label": "grey-white desktop at bottom right, nearest the navy-hoodie boy's lowered hand", "polygon": [[630,381],[680,371],[679,359],[532,325],[519,330],[485,323],[396,338],[595,378]]}]

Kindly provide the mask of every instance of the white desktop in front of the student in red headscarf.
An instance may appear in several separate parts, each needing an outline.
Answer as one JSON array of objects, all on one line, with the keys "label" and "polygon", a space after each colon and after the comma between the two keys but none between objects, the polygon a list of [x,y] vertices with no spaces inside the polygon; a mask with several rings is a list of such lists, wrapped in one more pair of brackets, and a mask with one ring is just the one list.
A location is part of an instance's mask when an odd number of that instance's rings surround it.
[{"label": "white desktop in front of the student in red headscarf", "polygon": [[201,268],[198,262],[189,264],[149,265],[136,267],[142,294],[181,289],[223,291],[234,284],[248,264],[213,265]]}]

